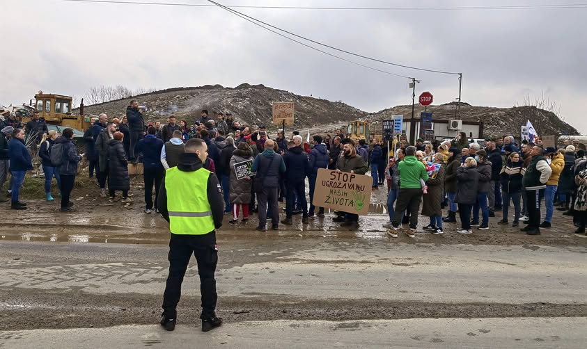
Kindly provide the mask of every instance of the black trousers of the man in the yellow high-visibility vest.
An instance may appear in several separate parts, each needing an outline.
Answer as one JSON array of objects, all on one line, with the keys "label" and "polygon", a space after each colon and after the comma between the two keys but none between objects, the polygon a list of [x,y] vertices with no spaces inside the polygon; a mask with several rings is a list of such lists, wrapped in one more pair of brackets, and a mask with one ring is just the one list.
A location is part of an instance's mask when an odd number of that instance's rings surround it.
[{"label": "black trousers of the man in the yellow high-visibility vest", "polygon": [[198,235],[171,234],[168,256],[169,276],[163,294],[163,311],[168,318],[177,317],[176,308],[181,297],[183,277],[192,253],[198,262],[198,274],[200,275],[200,293],[202,295],[200,318],[214,316],[218,299],[216,279],[214,279],[218,263],[218,250],[215,242],[208,244],[203,242],[204,240],[203,236]]}]

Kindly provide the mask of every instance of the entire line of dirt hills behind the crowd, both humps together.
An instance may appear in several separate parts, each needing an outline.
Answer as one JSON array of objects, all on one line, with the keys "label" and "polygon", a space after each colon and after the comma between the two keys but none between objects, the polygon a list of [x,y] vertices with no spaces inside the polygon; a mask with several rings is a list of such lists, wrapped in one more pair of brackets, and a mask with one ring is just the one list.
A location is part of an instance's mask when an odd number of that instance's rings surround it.
[{"label": "entire line of dirt hills behind the crowd, both humps together", "polygon": [[[148,107],[145,113],[147,121],[164,122],[166,117],[173,114],[178,120],[185,119],[191,123],[196,118],[199,119],[202,109],[208,109],[210,113],[230,111],[236,120],[244,124],[265,124],[269,129],[276,128],[272,125],[272,102],[295,102],[295,126],[293,127],[295,129],[316,129],[321,125],[329,125],[321,130],[331,131],[333,127],[340,127],[350,120],[386,120],[390,119],[392,114],[402,114],[406,120],[412,116],[411,105],[395,106],[369,114],[342,102],[299,96],[263,85],[251,86],[248,83],[243,83],[236,88],[206,85],[160,90],[132,98],[86,106],[84,113],[94,115],[107,113],[110,116],[120,116],[125,112],[131,99],[137,99],[139,104]],[[428,107],[428,111],[433,113],[433,119],[437,120],[457,118],[455,110],[455,102]],[[416,118],[422,111],[424,108],[419,104],[416,105]],[[494,108],[462,103],[460,117],[467,121],[483,121],[484,136],[512,134],[519,137],[520,126],[526,124],[526,120],[530,120],[541,135],[579,134],[577,129],[563,122],[554,113],[533,106]]]}]

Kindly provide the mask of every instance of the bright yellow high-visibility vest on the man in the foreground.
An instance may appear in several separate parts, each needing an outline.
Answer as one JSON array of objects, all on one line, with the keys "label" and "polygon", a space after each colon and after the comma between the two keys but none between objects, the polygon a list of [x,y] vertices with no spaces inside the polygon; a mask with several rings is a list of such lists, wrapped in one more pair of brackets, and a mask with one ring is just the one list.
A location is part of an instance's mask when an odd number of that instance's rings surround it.
[{"label": "bright yellow high-visibility vest on the man in the foreground", "polygon": [[169,230],[172,234],[203,235],[214,230],[212,209],[208,202],[210,171],[181,171],[170,168],[165,172]]}]

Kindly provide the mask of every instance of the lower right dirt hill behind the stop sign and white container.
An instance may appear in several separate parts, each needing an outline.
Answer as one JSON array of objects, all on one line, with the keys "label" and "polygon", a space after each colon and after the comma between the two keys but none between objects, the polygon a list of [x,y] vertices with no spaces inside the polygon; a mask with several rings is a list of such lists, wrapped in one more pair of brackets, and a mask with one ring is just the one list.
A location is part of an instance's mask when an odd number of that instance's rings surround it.
[{"label": "lower right dirt hill behind the stop sign and white container", "polygon": [[[451,120],[456,117],[456,103],[443,104],[441,106],[429,106],[428,112],[432,113],[432,120]],[[417,104],[414,108],[416,119],[424,107]],[[368,118],[370,120],[389,120],[391,115],[404,115],[404,120],[412,117],[412,106],[394,106],[384,109]],[[471,106],[461,103],[460,118],[464,121],[483,122],[483,136],[512,135],[520,137],[521,127],[528,120],[532,123],[539,135],[578,135],[579,131],[559,119],[556,114],[534,106],[521,106],[513,108],[494,108],[490,106]]]}]

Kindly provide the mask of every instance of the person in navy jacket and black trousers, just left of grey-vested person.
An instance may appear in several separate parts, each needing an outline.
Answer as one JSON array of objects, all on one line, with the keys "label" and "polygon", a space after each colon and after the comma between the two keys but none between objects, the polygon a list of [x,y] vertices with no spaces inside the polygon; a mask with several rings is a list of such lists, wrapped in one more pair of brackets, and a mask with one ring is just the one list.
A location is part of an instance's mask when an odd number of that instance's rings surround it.
[{"label": "person in navy jacket and black trousers, just left of grey-vested person", "polygon": [[145,181],[145,213],[151,213],[153,209],[152,190],[155,185],[155,207],[157,207],[157,197],[159,188],[163,181],[164,168],[161,163],[161,149],[163,149],[163,140],[157,138],[157,129],[149,127],[147,136],[139,140],[136,146],[137,152],[143,156],[143,179]]}]

